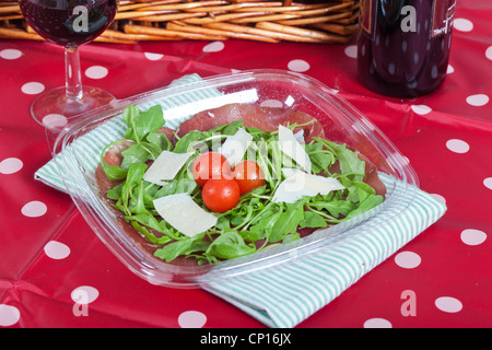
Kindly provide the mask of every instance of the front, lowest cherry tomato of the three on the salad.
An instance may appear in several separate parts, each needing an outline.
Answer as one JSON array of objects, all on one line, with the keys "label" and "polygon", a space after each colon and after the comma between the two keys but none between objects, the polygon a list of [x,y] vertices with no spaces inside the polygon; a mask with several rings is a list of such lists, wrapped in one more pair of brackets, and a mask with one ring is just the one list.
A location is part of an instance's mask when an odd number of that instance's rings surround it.
[{"label": "front, lowest cherry tomato of the three on the salad", "polygon": [[216,212],[225,212],[234,208],[239,196],[239,185],[233,178],[209,179],[201,191],[203,205]]}]

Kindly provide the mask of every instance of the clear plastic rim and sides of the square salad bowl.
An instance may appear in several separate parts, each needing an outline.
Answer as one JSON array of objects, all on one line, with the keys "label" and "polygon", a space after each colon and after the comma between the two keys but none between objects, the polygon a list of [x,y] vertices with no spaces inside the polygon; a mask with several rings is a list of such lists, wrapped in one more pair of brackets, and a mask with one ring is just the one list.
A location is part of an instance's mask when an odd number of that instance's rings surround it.
[{"label": "clear plastic rim and sides of the square salad bowl", "polygon": [[[200,96],[200,101],[187,103],[190,94]],[[166,108],[171,108],[172,113],[165,113],[165,117],[168,124],[175,125],[195,113],[230,103],[276,105],[307,113],[323,124],[327,139],[347,143],[376,164],[385,178],[385,201],[341,224],[241,258],[201,266],[166,264],[136,244],[118,225],[115,213],[98,195],[94,154],[101,154],[103,148],[93,145],[95,150],[87,151],[78,147],[78,139],[96,128],[107,126],[113,118],[121,115],[125,107],[144,107],[157,102],[164,102]],[[114,140],[105,140],[104,143],[110,141]],[[394,214],[398,215],[405,209],[400,206],[401,200],[405,198],[411,202],[418,188],[417,175],[401,153],[361,113],[323,83],[304,74],[279,70],[251,70],[218,75],[118,101],[112,106],[74,119],[58,135],[54,156],[74,203],[104,244],[138,276],[153,284],[176,288],[196,288],[257,269],[274,268],[278,264],[289,264],[305,254],[313,254],[333,244],[337,237],[342,237],[351,229],[364,229],[380,210],[395,209]]]}]

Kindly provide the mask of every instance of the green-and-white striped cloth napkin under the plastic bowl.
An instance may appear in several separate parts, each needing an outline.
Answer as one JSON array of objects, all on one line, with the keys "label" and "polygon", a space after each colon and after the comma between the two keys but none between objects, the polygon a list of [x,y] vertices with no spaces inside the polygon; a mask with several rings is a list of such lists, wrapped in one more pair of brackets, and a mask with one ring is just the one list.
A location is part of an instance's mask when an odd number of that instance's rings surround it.
[{"label": "green-and-white striped cloth napkin under the plastic bowl", "polygon": [[[197,74],[185,75],[173,85],[200,81]],[[221,93],[215,89],[190,92],[173,100],[156,100],[138,105],[147,109],[161,104],[164,110],[186,104],[210,101]],[[190,115],[166,120],[166,126],[177,128]],[[96,129],[78,138],[70,148],[84,154],[84,167],[95,171],[101,150],[125,135],[126,125],[115,117]],[[79,194],[85,180],[63,178],[60,174],[73,164],[57,155],[35,173],[35,179],[62,191],[77,186]],[[71,172],[72,173],[72,172]],[[383,182],[394,184],[395,178],[382,174]],[[87,188],[89,190],[89,188]],[[243,310],[269,327],[290,328],[330,303],[362,276],[390,257],[395,252],[437,221],[446,207],[431,195],[411,188],[411,196],[399,198],[393,206],[379,211],[370,220],[343,234],[335,235],[330,243],[314,254],[302,255],[289,264],[245,272],[238,277],[207,282],[202,289]],[[399,212],[395,215],[395,212]]]}]

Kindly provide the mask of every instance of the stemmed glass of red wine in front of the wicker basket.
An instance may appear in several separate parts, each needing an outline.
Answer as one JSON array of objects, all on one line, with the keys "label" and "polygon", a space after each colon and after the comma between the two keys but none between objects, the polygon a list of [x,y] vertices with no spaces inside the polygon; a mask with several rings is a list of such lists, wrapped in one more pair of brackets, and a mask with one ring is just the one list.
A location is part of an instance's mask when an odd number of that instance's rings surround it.
[{"label": "stemmed glass of red wine in front of the wicker basket", "polygon": [[[104,90],[82,86],[79,46],[92,42],[108,27],[118,3],[119,0],[20,1],[28,25],[48,42],[65,47],[66,85],[44,92],[31,105],[31,115],[40,125],[48,129],[62,127],[60,119],[67,120],[115,100]],[[57,121],[56,117],[60,119]]]}]

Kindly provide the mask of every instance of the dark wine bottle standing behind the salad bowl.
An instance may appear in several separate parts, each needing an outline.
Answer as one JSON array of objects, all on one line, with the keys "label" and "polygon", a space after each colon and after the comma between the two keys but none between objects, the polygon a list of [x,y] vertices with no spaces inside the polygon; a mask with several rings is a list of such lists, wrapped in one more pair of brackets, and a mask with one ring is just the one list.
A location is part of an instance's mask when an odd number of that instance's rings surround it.
[{"label": "dark wine bottle standing behind the salad bowl", "polygon": [[443,83],[456,0],[361,0],[358,70],[376,93],[417,97]]}]

